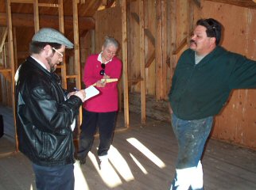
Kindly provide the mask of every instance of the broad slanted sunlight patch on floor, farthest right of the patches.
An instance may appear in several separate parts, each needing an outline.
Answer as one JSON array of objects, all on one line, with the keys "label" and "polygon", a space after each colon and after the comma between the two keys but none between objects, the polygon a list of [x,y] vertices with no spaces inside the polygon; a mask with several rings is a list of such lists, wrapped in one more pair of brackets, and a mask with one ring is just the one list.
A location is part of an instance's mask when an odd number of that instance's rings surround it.
[{"label": "broad slanted sunlight patch on floor, farthest right of the patches", "polygon": [[150,161],[153,161],[155,165],[157,165],[159,168],[165,168],[165,163],[161,161],[160,158],[157,157],[157,155],[153,154],[151,150],[149,150],[146,146],[142,144],[142,142],[139,142],[138,139],[130,138],[126,139],[128,142],[130,142],[131,145],[133,145],[135,148],[140,150],[142,154],[144,154],[147,158],[149,158]]}]

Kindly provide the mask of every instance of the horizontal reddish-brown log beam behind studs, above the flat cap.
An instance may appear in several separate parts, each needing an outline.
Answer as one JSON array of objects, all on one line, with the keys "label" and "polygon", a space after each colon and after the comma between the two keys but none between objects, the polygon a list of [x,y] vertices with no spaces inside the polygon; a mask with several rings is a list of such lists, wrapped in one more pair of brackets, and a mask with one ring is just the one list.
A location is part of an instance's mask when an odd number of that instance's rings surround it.
[{"label": "horizontal reddish-brown log beam behind studs, above the flat cap", "polygon": [[[34,27],[33,14],[12,13],[13,27]],[[73,29],[73,17],[64,17],[65,28]],[[59,17],[50,15],[40,16],[40,25],[49,28],[59,28]],[[6,13],[0,13],[0,26],[6,26]],[[92,17],[79,17],[80,30],[95,29]]]}]

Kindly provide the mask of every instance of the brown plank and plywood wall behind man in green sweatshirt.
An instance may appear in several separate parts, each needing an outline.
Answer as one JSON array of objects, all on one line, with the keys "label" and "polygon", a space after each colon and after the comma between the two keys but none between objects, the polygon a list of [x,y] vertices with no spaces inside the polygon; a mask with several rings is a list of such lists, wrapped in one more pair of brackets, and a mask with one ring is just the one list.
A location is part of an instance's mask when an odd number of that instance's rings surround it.
[{"label": "brown plank and plywood wall behind man in green sweatshirt", "polygon": [[[163,38],[167,45],[162,54],[167,54],[163,64],[168,64],[165,74],[167,86],[163,93],[165,97],[157,99],[157,86],[161,76],[157,75],[156,58],[145,68],[146,94],[150,101],[146,102],[147,116],[158,117],[169,120],[168,116],[161,116],[166,113],[167,93],[171,86],[173,70],[176,67],[176,60],[184,49],[188,48],[187,42],[195,22],[199,18],[213,17],[225,26],[223,35],[223,47],[230,51],[238,52],[250,59],[256,59],[256,9],[248,9],[242,6],[211,1],[161,1],[165,3],[166,17],[161,15],[161,21],[166,21],[163,28]],[[140,36],[139,36],[139,1],[128,1],[128,67],[130,82],[130,110],[140,112]],[[157,3],[155,1],[144,1],[145,21],[145,64],[153,51],[156,50],[157,24]],[[164,24],[163,24],[164,25]],[[166,38],[166,39],[165,39]],[[165,52],[164,52],[165,51]],[[232,93],[227,107],[216,117],[214,130],[211,137],[227,142],[239,144],[240,146],[256,149],[256,90],[239,89]],[[154,100],[154,101],[152,101]],[[158,102],[158,103],[157,103]],[[157,106],[162,105],[162,106]],[[161,108],[160,108],[161,107]],[[159,110],[158,110],[159,109]]]}]

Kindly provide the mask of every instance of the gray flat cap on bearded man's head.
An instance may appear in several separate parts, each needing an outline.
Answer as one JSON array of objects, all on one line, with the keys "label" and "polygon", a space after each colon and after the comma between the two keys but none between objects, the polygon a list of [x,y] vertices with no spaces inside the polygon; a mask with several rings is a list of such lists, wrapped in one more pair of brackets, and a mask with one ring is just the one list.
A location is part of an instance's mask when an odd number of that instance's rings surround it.
[{"label": "gray flat cap on bearded man's head", "polygon": [[57,43],[67,48],[73,48],[74,44],[62,33],[53,28],[41,28],[32,38],[32,41]]}]

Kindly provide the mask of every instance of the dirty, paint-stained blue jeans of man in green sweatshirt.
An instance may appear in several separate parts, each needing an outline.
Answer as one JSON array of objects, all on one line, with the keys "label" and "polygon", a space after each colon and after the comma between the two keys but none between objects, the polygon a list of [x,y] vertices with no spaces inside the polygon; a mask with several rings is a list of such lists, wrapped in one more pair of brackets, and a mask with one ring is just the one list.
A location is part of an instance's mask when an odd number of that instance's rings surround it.
[{"label": "dirty, paint-stained blue jeans of man in green sweatshirt", "polygon": [[212,116],[201,120],[180,120],[172,115],[173,131],[179,151],[176,174],[170,190],[204,189],[200,159],[211,132],[212,122]]}]

